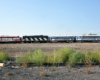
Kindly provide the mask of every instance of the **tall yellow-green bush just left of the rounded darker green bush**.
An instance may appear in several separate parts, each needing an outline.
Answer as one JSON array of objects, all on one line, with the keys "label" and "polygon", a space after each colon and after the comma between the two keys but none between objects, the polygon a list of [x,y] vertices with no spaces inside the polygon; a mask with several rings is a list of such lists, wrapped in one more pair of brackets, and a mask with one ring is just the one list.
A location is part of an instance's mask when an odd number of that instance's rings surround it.
[{"label": "tall yellow-green bush just left of the rounded darker green bush", "polygon": [[70,49],[70,48],[62,48],[58,51],[58,53],[61,55],[63,62],[68,61],[68,56],[70,54],[72,54],[73,52],[75,52],[75,51],[73,49]]}]

